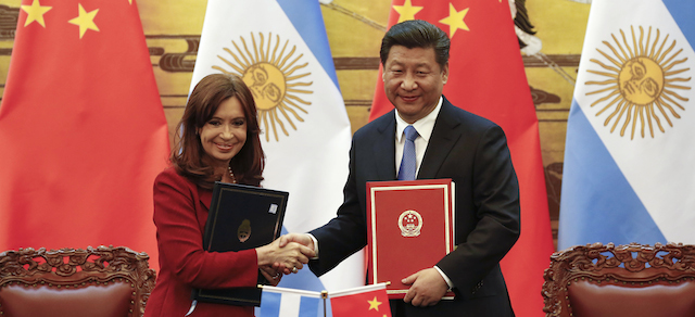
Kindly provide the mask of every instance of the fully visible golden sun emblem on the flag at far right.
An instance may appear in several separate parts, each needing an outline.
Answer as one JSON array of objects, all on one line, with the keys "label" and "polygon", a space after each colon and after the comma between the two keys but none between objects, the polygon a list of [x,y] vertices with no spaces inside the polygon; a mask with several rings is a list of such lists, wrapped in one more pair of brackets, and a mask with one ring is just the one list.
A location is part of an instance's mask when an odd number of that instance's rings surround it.
[{"label": "fully visible golden sun emblem on the flag at far right", "polygon": [[[673,127],[671,121],[680,118],[685,111],[683,105],[688,100],[680,91],[690,90],[691,77],[683,76],[687,72],[687,58],[681,53],[683,49],[675,40],[669,40],[667,34],[661,39],[659,29],[646,30],[640,26],[640,34],[631,27],[631,37],[620,30],[620,38],[611,35],[612,41],[604,41],[607,50],[596,49],[604,59],[591,59],[602,71],[586,72],[605,77],[605,80],[586,81],[587,86],[596,86],[586,96],[602,97],[591,106],[598,105],[596,116],[605,116],[604,126],[610,126],[610,132],[620,128],[624,137],[629,130],[630,138],[635,132],[642,138],[648,134],[654,138],[658,128],[666,132],[665,126]],[[654,37],[654,40],[652,38]]]}]

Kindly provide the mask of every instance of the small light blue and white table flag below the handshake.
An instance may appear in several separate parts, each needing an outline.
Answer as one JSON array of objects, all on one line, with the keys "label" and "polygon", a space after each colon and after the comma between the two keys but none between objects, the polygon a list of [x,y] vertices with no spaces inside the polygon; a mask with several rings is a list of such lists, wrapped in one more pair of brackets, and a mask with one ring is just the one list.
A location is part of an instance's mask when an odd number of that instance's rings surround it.
[{"label": "small light blue and white table flag below the handshake", "polygon": [[263,287],[258,317],[323,317],[320,292]]}]

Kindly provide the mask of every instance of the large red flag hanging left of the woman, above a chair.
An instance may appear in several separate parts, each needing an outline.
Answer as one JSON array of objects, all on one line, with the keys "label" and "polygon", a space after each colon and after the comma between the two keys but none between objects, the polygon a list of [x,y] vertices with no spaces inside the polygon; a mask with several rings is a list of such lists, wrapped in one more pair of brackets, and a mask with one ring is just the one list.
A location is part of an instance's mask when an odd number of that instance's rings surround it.
[{"label": "large red flag hanging left of the woman, above a chair", "polygon": [[0,149],[0,251],[124,245],[159,267],[168,132],[135,0],[22,1]]}]

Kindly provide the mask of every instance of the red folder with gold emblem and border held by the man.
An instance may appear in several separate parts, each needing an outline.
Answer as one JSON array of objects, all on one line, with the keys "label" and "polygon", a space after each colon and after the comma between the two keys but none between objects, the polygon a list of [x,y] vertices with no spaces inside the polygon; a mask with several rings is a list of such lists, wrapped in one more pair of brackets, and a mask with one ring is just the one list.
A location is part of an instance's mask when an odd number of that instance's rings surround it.
[{"label": "red folder with gold emblem and border held by the man", "polygon": [[368,278],[391,282],[389,299],[403,299],[402,279],[454,250],[454,192],[451,179],[367,182]]}]

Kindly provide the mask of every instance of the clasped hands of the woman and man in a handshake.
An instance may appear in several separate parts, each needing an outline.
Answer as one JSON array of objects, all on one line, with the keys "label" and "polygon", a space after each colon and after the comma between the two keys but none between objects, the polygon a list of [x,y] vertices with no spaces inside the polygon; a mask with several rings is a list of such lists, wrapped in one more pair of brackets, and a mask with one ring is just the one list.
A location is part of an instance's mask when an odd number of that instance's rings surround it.
[{"label": "clasped hands of the woman and man in a handshake", "polygon": [[307,264],[308,259],[315,256],[314,250],[296,242],[290,242],[280,248],[279,239],[256,248],[256,254],[258,266],[273,266],[279,263],[290,269],[294,267],[302,269],[304,264]]}]

